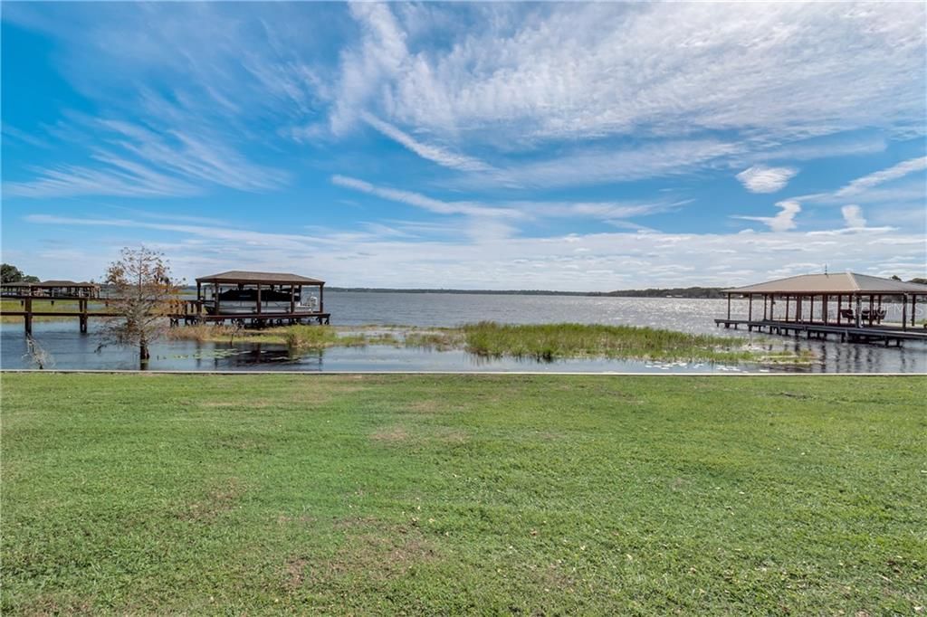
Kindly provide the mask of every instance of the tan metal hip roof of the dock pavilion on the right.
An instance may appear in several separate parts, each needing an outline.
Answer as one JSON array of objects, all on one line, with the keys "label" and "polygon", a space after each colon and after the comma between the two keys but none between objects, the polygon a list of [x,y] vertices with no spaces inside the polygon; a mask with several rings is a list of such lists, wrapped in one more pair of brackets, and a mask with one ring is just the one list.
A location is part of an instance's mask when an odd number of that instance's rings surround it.
[{"label": "tan metal hip roof of the dock pavilion on the right", "polygon": [[927,285],[905,283],[881,276],[843,272],[837,274],[801,274],[787,279],[725,289],[727,294],[922,294]]}]

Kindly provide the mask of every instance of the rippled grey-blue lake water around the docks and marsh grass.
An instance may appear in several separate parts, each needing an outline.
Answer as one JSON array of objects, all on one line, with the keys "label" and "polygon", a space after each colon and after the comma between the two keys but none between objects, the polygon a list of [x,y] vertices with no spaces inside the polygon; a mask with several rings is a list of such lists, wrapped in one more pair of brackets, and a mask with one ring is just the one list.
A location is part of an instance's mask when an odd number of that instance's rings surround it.
[{"label": "rippled grey-blue lake water around the docks and marsh grass", "polygon": [[[733,315],[746,315],[746,303],[734,301]],[[756,308],[756,307],[755,307]],[[151,370],[177,371],[616,371],[616,372],[908,372],[927,373],[927,346],[902,347],[814,341],[717,329],[714,319],[727,311],[726,300],[586,296],[497,296],[479,294],[404,294],[332,292],[325,309],[333,325],[454,326],[473,321],[505,323],[629,324],[693,334],[730,334],[749,338],[769,350],[811,350],[809,366],[765,367],[756,364],[660,363],[640,360],[562,360],[537,362],[481,359],[464,351],[429,351],[393,346],[335,347],[293,354],[286,346],[175,341],[152,346]],[[98,338],[79,334],[76,320],[33,324],[33,336],[52,357],[56,369],[133,370],[133,349],[95,352]],[[21,322],[0,325],[0,366],[32,368],[25,358]]]}]

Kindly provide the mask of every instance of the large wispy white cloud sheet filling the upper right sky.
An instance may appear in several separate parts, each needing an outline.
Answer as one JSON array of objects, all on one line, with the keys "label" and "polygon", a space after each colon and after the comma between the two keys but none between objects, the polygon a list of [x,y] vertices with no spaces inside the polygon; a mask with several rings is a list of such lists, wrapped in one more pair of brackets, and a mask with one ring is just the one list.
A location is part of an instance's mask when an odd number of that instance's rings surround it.
[{"label": "large wispy white cloud sheet filling the upper right sky", "polygon": [[452,42],[438,49],[403,36],[388,7],[355,14],[364,39],[343,66],[339,119],[372,105],[435,134],[501,143],[794,138],[924,116],[918,3],[488,6],[473,11],[475,27],[436,32]]}]

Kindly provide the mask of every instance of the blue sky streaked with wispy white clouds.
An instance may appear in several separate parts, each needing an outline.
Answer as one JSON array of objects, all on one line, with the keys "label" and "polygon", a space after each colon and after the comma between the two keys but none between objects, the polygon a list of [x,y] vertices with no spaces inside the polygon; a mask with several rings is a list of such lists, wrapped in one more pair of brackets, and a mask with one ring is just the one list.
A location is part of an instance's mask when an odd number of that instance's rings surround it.
[{"label": "blue sky streaked with wispy white clouds", "polygon": [[927,276],[927,5],[2,6],[2,257],[609,291]]}]

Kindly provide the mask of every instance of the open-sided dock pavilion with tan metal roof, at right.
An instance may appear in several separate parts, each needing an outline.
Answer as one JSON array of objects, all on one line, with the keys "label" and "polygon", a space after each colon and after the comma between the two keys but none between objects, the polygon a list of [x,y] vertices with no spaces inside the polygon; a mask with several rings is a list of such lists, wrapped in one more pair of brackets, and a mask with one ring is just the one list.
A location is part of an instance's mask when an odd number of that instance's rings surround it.
[{"label": "open-sided dock pavilion with tan metal roof, at right", "polygon": [[[851,338],[879,338],[886,342],[923,336],[922,333],[891,336],[907,333],[908,328],[916,325],[918,300],[927,298],[927,285],[920,283],[855,272],[803,274],[726,289],[724,293],[728,296],[728,316],[715,321],[725,327],[745,324],[749,330],[767,328],[777,334],[801,330],[809,336],[842,334],[845,339],[849,334]],[[747,298],[746,320],[731,316],[732,296]],[[892,316],[888,315],[889,308]]]}]

